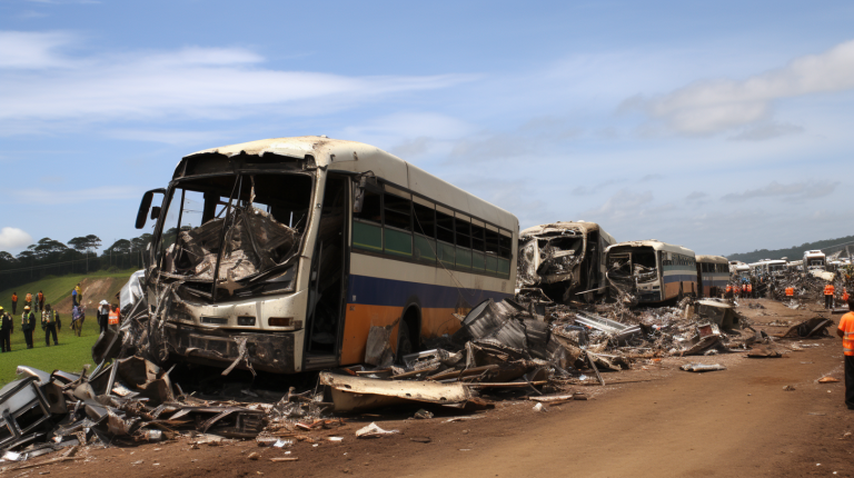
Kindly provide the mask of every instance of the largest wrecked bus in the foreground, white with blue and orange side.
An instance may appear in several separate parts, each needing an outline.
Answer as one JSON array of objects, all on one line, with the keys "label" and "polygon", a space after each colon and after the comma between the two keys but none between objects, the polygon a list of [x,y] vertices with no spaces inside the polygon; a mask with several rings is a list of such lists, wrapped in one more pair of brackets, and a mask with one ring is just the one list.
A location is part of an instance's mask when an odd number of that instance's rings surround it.
[{"label": "largest wrecked bus in the foreground, white with blue and orange side", "polygon": [[408,353],[516,281],[515,216],[359,142],[189,155],[143,196],[137,227],[149,217],[148,307],[170,356],[191,362],[284,374],[358,364],[373,326]]}]

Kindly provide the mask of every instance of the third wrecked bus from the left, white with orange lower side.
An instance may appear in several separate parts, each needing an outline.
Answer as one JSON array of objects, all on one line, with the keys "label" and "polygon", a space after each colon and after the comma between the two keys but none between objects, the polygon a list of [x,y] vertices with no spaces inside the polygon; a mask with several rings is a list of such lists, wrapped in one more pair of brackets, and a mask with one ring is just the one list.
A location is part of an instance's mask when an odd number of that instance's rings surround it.
[{"label": "third wrecked bus from the left, white with orange lower side", "polygon": [[638,303],[662,302],[697,295],[694,251],[655,239],[619,242],[605,250],[607,278]]}]

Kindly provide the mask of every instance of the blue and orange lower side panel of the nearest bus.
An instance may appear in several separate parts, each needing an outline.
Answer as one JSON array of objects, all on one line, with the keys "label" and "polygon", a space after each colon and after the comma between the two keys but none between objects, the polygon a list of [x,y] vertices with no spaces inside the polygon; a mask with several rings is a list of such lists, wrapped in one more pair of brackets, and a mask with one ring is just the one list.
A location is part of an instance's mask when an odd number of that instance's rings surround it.
[{"label": "blue and orange lower side panel of the nearest bus", "polygon": [[[350,275],[347,315],[344,323],[341,365],[365,360],[365,342],[371,327],[385,327],[415,303],[421,310],[421,337],[454,333],[460,322],[451,313],[466,315],[473,307],[491,298],[500,301],[508,293],[460,289],[405,280]],[[391,331],[391,349],[397,345],[397,327]]]}]

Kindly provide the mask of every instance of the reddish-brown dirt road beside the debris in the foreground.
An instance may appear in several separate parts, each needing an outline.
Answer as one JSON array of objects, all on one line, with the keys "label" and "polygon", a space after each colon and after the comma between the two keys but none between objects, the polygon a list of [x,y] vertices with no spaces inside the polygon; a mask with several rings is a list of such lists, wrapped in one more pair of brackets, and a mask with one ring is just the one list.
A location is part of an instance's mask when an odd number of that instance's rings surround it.
[{"label": "reddish-brown dirt road beside the debris in the foreground", "polygon": [[[798,320],[792,311],[761,300],[766,309],[742,308],[757,325]],[[811,306],[814,307],[814,306]],[[817,310],[817,307],[815,307]],[[838,322],[838,317],[833,319]],[[784,328],[767,327],[769,333]],[[783,342],[791,347],[797,342]],[[838,338],[805,340],[784,358],[744,353],[669,358],[646,370],[609,374],[606,387],[579,387],[592,395],[534,411],[525,400],[503,401],[466,421],[455,414],[427,420],[397,416],[356,417],[344,427],[312,434],[287,449],[254,442],[192,449],[185,439],[137,448],[90,450],[85,460],[37,468],[63,477],[116,476],[365,476],[365,477],[801,477],[854,476],[854,411],[843,402]],[[795,347],[797,348],[797,347]],[[689,374],[688,361],[724,364],[725,371]],[[646,380],[646,381],[642,381]],[[794,390],[784,390],[792,386]],[[356,439],[376,420],[399,435]],[[324,437],[344,437],[330,442]],[[259,459],[248,456],[258,454]],[[271,457],[297,461],[271,462]],[[17,475],[10,475],[17,476]]]}]

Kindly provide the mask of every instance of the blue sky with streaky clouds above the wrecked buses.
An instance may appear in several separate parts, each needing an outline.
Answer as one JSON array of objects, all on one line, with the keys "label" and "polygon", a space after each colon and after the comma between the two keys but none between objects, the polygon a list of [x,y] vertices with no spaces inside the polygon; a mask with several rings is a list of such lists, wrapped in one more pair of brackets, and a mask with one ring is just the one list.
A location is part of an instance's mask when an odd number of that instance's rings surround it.
[{"label": "blue sky with streaky clouds above the wrecked buses", "polygon": [[327,135],[528,227],[854,233],[854,3],[0,0],[0,250],[138,236],[186,153]]}]

